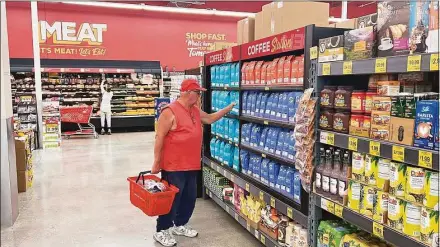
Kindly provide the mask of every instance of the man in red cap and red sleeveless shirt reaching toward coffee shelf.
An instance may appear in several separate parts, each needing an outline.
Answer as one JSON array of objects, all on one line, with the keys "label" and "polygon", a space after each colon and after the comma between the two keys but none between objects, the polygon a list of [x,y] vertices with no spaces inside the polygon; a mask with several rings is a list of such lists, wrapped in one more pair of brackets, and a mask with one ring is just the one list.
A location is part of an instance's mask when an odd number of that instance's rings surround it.
[{"label": "man in red cap and red sleeveless shirt reaching toward coffee shelf", "polygon": [[179,188],[171,211],[157,219],[153,238],[163,246],[176,245],[173,234],[196,237],[187,225],[197,198],[197,174],[201,169],[202,124],[212,124],[226,115],[234,103],[212,114],[198,106],[202,91],[197,80],[182,82],[180,98],[165,107],[159,117],[154,145],[153,174]]}]

